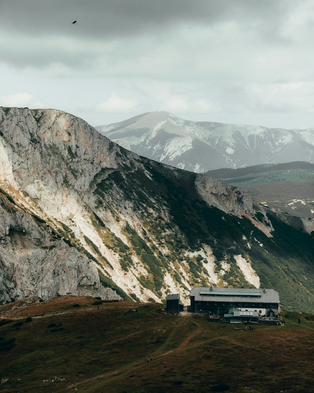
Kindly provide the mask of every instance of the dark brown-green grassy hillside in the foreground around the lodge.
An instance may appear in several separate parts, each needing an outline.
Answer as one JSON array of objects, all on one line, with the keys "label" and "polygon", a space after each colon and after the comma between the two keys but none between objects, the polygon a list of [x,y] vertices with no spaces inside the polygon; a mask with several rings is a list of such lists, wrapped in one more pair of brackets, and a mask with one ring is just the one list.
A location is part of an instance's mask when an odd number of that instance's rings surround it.
[{"label": "dark brown-green grassy hillside in the foreground around the lodge", "polygon": [[313,316],[283,312],[285,326],[257,325],[245,332],[229,323],[209,323],[206,316],[165,314],[156,303],[109,302],[99,309],[97,303],[59,297],[1,306],[0,391],[312,389]]}]

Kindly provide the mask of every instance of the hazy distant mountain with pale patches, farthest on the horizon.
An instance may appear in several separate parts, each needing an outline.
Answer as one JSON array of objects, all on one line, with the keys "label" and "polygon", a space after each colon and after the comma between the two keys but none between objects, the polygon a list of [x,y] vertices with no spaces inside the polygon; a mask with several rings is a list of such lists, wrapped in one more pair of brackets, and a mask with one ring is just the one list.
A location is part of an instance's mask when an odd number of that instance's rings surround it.
[{"label": "hazy distant mountain with pale patches, farthest on the horizon", "polygon": [[265,163],[314,163],[314,129],[188,121],[163,111],[96,129],[141,156],[196,173]]}]

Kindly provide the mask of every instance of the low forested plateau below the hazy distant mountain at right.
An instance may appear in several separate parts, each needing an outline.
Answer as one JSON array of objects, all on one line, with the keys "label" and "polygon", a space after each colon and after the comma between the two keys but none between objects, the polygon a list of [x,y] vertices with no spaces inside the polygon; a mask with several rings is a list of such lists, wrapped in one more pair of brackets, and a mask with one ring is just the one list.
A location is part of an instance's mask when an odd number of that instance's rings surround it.
[{"label": "low forested plateau below the hazy distant mountain at right", "polygon": [[254,200],[299,217],[314,217],[314,164],[288,162],[206,172],[247,190]]}]

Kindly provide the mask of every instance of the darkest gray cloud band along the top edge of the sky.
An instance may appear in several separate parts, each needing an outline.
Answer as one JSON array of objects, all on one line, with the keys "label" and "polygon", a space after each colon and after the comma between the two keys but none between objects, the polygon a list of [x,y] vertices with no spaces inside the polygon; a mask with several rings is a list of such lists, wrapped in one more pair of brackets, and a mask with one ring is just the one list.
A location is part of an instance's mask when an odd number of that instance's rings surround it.
[{"label": "darkest gray cloud band along the top edge of the sky", "polygon": [[24,34],[100,40],[231,20],[273,32],[288,5],[283,0],[2,0],[0,23]]}]

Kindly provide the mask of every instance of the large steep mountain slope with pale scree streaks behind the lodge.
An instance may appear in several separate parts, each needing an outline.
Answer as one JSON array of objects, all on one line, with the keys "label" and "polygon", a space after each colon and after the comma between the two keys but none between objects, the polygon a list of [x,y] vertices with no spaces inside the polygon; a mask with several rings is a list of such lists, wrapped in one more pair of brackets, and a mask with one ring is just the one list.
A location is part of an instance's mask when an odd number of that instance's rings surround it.
[{"label": "large steep mountain slope with pale scree streaks behind the lodge", "polygon": [[[139,157],[62,111],[0,108],[0,141],[6,210],[15,202],[51,241],[88,257],[100,283],[124,299],[187,298],[194,285],[254,285],[274,287],[287,309],[314,306],[312,221],[263,208],[221,180]],[[14,274],[14,248],[5,257],[10,230],[22,239],[33,230],[2,227],[2,274],[11,269],[12,287],[20,280],[36,292],[36,280]],[[49,266],[49,258],[35,264]],[[31,268],[32,259],[27,263]],[[60,275],[70,285],[71,277]],[[2,291],[2,299],[22,296]]]}]

